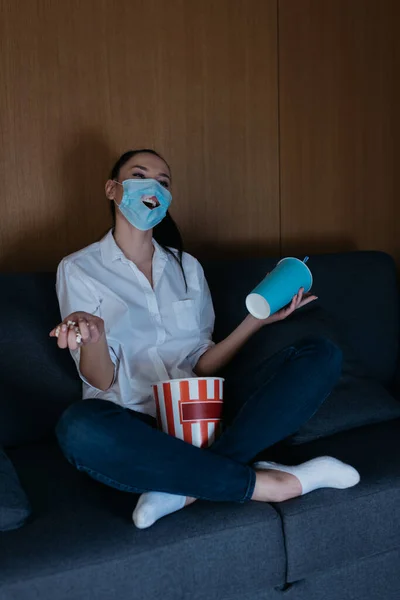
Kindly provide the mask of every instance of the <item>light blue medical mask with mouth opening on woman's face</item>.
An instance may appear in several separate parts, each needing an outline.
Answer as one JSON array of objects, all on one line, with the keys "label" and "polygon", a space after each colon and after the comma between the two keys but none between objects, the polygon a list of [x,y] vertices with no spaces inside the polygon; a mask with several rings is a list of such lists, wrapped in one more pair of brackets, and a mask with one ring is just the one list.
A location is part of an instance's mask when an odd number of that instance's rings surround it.
[{"label": "light blue medical mask with mouth opening on woman's face", "polygon": [[[133,227],[141,231],[153,229],[161,223],[167,214],[172,196],[156,179],[125,179],[119,183],[124,188],[119,210]],[[157,200],[158,206],[149,208],[144,204],[152,204]]]}]

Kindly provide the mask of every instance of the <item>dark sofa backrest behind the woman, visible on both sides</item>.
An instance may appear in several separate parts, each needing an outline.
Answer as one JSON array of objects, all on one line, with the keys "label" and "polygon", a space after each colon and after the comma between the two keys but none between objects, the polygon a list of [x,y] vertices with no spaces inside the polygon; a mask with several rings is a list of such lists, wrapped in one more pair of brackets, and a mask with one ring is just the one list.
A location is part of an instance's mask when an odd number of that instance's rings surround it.
[{"label": "dark sofa backrest behind the woman, visible on both sides", "polygon": [[[204,263],[217,338],[246,315],[246,294],[275,264],[273,259]],[[343,324],[368,373],[389,383],[399,327],[393,260],[357,252],[315,256],[308,264],[322,306]],[[0,286],[0,445],[12,446],[50,435],[62,411],[81,398],[81,383],[69,353],[48,337],[60,318],[54,273],[0,274]]]}]

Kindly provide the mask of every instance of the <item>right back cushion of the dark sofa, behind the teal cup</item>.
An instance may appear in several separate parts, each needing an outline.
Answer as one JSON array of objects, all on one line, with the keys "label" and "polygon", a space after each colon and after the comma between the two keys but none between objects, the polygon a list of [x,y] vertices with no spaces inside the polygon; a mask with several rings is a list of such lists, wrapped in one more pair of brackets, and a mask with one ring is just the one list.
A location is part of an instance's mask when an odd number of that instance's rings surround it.
[{"label": "right back cushion of the dark sofa, behind the teal cup", "polygon": [[[246,295],[276,262],[259,258],[203,263],[216,309],[217,339],[228,335],[245,317]],[[313,291],[319,305],[341,324],[354,357],[371,378],[390,383],[399,339],[393,259],[381,252],[350,252],[311,256],[307,264],[313,273]]]}]

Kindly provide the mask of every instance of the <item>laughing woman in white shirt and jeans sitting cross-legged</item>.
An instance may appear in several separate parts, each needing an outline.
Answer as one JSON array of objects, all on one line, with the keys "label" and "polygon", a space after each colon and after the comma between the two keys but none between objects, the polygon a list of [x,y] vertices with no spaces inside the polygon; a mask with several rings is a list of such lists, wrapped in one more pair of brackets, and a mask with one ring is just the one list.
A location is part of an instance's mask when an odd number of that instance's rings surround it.
[{"label": "laughing woman in white shirt and jeans sitting cross-legged", "polygon": [[182,252],[168,213],[170,187],[170,169],[156,152],[125,153],[105,186],[114,229],[59,266],[63,321],[50,335],[70,349],[84,397],[57,426],[65,456],[106,485],[141,493],[133,513],[139,528],[197,498],[281,502],[355,485],[357,471],[330,457],[297,467],[251,465],[297,431],[335,385],[341,353],[327,340],[280,352],[246,378],[251,393],[227,394],[228,426],[209,450],[156,429],[153,383],[219,372],[261,327],[315,299],[300,290],[290,307],[265,321],[247,316],[213,344],[210,292],[197,260]]}]

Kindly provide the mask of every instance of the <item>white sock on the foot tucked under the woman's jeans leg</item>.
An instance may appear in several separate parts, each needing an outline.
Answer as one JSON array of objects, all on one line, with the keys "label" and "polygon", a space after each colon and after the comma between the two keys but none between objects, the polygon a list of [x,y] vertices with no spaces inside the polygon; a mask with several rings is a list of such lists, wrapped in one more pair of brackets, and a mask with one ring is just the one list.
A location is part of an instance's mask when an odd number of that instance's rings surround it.
[{"label": "white sock on the foot tucked under the woman's jeans leg", "polygon": [[132,519],[138,529],[151,527],[158,519],[185,506],[186,496],[164,492],[146,492],[138,500]]}]

